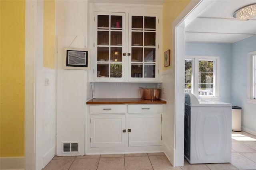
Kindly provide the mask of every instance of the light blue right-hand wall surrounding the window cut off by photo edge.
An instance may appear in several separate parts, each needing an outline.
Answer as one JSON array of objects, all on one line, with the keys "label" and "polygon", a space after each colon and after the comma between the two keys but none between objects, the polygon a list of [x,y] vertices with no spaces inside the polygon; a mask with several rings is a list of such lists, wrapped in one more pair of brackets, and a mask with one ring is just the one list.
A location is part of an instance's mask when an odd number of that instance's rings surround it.
[{"label": "light blue right-hand wall surrounding the window cut off by photo edge", "polygon": [[242,107],[242,130],[256,134],[256,104],[248,103],[248,53],[256,51],[256,36],[232,44],[232,105]]}]

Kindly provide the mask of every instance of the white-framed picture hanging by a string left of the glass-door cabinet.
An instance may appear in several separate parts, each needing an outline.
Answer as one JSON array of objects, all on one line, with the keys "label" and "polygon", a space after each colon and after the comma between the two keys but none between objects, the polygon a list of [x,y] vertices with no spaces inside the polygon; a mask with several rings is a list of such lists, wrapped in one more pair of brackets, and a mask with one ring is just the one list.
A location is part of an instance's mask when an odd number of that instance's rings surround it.
[{"label": "white-framed picture hanging by a string left of the glass-door cabinet", "polygon": [[90,49],[65,48],[64,69],[90,69]]}]

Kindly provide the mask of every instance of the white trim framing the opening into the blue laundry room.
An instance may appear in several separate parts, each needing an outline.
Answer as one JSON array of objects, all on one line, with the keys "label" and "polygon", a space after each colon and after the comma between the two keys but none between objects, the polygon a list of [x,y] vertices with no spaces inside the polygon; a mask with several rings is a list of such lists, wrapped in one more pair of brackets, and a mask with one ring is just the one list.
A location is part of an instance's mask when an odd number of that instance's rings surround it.
[{"label": "white trim framing the opening into the blue laundry room", "polygon": [[175,150],[174,167],[184,166],[184,59],[185,27],[214,1],[192,0],[172,22],[172,56],[175,56]]}]

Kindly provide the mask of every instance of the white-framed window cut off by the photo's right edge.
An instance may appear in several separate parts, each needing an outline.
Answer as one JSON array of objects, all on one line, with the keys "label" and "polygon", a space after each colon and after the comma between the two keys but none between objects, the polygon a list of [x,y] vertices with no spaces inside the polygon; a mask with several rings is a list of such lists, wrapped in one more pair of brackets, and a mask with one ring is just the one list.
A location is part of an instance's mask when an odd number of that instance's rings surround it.
[{"label": "white-framed window cut off by the photo's right edge", "polygon": [[[256,51],[248,53],[248,97],[256,102]],[[250,102],[251,103],[251,102]]]}]

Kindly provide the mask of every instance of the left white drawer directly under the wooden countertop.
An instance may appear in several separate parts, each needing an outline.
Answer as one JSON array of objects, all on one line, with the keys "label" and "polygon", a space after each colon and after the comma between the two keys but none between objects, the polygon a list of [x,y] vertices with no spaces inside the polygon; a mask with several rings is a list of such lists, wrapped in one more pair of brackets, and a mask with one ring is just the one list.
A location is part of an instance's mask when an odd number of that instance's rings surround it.
[{"label": "left white drawer directly under the wooden countertop", "polygon": [[126,113],[126,105],[92,105],[90,114]]}]

